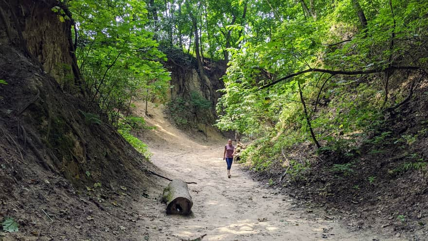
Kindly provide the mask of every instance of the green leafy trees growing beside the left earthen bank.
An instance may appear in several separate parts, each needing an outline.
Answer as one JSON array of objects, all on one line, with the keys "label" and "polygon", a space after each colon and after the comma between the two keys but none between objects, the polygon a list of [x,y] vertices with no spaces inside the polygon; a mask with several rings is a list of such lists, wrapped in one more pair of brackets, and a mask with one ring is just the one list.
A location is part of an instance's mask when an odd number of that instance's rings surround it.
[{"label": "green leafy trees growing beside the left earthen bank", "polygon": [[153,33],[145,30],[145,3],[73,0],[68,5],[78,25],[73,29],[75,55],[90,91],[88,102],[99,106],[94,114],[98,117],[89,116],[88,121],[109,122],[148,158],[147,146],[132,134],[146,128],[142,118],[130,116],[132,101],[166,101],[171,78],[160,63],[166,56]]}]

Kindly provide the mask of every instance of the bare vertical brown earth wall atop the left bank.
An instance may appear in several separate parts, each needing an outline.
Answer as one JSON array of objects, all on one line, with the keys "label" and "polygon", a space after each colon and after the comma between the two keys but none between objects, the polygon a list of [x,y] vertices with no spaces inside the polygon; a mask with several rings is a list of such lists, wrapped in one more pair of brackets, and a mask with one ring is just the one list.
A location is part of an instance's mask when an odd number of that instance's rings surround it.
[{"label": "bare vertical brown earth wall atop the left bank", "polygon": [[[55,13],[54,7],[61,9]],[[60,16],[65,21],[60,21]],[[81,85],[67,8],[55,0],[0,1],[0,44],[12,43],[70,92]]]}]

